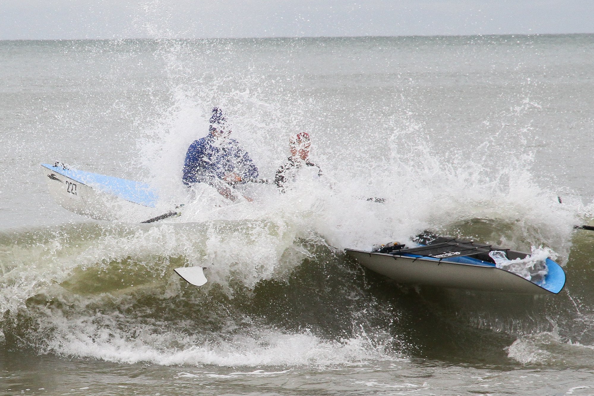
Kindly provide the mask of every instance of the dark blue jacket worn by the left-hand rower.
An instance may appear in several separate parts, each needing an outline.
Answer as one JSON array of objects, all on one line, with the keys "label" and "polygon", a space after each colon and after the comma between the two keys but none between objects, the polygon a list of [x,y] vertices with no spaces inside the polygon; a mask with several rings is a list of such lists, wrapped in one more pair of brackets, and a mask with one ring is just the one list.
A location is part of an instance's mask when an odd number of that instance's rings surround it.
[{"label": "dark blue jacket worn by the left-hand rower", "polygon": [[212,184],[235,172],[245,183],[258,177],[258,168],[235,139],[216,139],[208,134],[188,147],[182,180],[186,186],[194,183]]}]

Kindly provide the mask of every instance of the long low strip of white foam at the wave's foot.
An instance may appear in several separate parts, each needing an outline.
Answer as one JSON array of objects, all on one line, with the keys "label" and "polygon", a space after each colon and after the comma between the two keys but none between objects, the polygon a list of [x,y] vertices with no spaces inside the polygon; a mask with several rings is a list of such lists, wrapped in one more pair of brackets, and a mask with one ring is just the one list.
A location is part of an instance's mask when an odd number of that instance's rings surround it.
[{"label": "long low strip of white foam at the wave's foot", "polygon": [[131,337],[125,331],[118,331],[117,318],[103,316],[98,319],[97,316],[81,316],[74,320],[51,316],[45,324],[57,329],[46,345],[46,352],[118,363],[230,367],[322,367],[402,359],[384,351],[383,345],[369,342],[365,334],[328,341],[309,331],[289,334],[276,329],[254,328],[250,335],[236,334],[217,340],[211,335],[187,335],[175,331],[156,334],[139,324]]}]

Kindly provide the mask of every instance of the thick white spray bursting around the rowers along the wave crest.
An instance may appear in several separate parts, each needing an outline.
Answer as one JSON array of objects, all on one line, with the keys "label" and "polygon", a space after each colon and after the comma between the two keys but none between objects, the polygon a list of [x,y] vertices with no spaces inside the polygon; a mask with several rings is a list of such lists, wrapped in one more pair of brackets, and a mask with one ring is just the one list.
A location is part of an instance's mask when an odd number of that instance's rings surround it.
[{"label": "thick white spray bursting around the rowers along the wave crest", "polygon": [[[140,147],[141,161],[151,169],[153,185],[167,191],[165,199],[172,205],[186,203],[182,218],[171,221],[285,216],[290,222],[299,223],[303,232],[318,232],[339,248],[363,248],[389,240],[406,241],[425,228],[444,227],[468,218],[509,222],[518,233],[533,238],[534,243],[564,241],[570,235],[570,225],[577,221],[574,206],[558,205],[554,194],[535,183],[527,169],[532,161],[529,156],[522,159],[510,153],[509,164],[495,170],[481,166],[472,156],[466,162],[455,158],[454,166],[448,155],[439,153],[423,139],[422,128],[409,120],[400,120],[402,125],[391,132],[390,155],[372,168],[365,162],[353,162],[353,156],[345,158],[345,152],[353,152],[353,147],[345,144],[315,150],[322,142],[317,142],[317,136],[312,133],[312,156],[323,165],[324,171],[320,182],[296,183],[289,194],[279,195],[274,188],[260,192],[255,205],[247,202],[229,205],[204,188],[191,196],[171,175],[180,174],[188,144],[206,134],[207,115],[204,113],[211,102],[209,98],[200,97],[195,102],[181,99],[171,112],[165,113],[155,130],[147,131],[151,140],[143,140]],[[249,102],[251,97],[247,95],[244,100]],[[286,111],[275,109],[281,113]],[[251,120],[263,114],[255,111],[248,115],[241,103],[229,103],[228,112],[241,121],[235,137],[254,153],[261,176],[272,178],[274,169],[283,161],[279,153],[286,150],[282,143],[286,133],[279,136],[270,125],[264,131],[251,125]],[[280,114],[268,116],[276,120],[281,117]],[[270,139],[274,134],[277,137]],[[407,140],[400,141],[399,137]],[[362,150],[367,152],[369,147],[362,147]],[[385,150],[386,147],[380,147],[380,151]],[[503,155],[500,153],[500,158]],[[362,161],[360,157],[361,153],[354,156]],[[380,204],[361,199],[367,196],[386,201]],[[567,248],[554,246],[554,249],[564,256]]]}]

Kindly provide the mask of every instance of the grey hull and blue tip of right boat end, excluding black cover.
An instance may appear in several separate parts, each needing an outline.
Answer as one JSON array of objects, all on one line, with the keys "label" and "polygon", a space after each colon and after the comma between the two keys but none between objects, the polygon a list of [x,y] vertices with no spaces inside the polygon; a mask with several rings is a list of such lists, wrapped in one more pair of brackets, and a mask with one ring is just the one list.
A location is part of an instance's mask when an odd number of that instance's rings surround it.
[{"label": "grey hull and blue tip of right boat end, excluding black cover", "polygon": [[519,294],[557,294],[565,284],[563,269],[551,259],[546,260],[549,273],[544,282],[536,284],[472,257],[438,260],[354,249],[345,251],[371,271],[403,284]]}]

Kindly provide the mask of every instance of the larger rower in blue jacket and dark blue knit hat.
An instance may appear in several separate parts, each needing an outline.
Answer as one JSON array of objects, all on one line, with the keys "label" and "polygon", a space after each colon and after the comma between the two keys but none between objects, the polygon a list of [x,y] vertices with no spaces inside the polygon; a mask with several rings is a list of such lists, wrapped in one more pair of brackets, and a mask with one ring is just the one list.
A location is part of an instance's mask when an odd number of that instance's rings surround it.
[{"label": "larger rower in blue jacket and dark blue knit hat", "polygon": [[182,181],[188,187],[210,184],[222,196],[235,200],[232,187],[257,180],[258,168],[237,140],[229,137],[226,121],[222,110],[213,108],[208,135],[188,147]]}]

